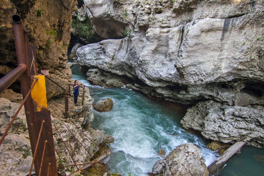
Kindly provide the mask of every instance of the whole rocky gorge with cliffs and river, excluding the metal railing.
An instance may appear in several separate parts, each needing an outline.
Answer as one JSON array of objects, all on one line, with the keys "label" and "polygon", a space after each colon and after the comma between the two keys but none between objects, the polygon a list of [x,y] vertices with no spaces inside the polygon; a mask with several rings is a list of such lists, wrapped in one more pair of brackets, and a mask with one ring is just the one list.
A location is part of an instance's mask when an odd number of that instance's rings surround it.
[{"label": "whole rocky gorge with cliffs and river, excluding the metal railing", "polygon": [[[240,140],[246,140],[240,154],[216,175],[261,175],[263,3],[3,0],[0,76],[17,66],[11,21],[17,13],[36,46],[38,70],[49,71],[46,95],[62,175],[111,150],[80,174],[208,176],[207,166]],[[84,104],[74,106],[69,97],[66,118],[55,102],[64,102],[74,80],[85,85]],[[105,99],[112,109],[94,108]],[[0,100],[2,136],[23,101],[19,79]],[[0,168],[8,175],[28,175],[32,162],[25,114],[0,145]],[[65,164],[71,166],[60,169]]]}]

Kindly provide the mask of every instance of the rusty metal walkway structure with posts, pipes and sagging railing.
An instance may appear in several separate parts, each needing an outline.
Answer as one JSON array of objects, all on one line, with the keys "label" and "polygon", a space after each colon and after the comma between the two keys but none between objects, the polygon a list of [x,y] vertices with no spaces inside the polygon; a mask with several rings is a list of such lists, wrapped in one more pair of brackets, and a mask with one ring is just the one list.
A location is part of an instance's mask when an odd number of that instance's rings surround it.
[{"label": "rusty metal walkway structure with posts, pipes and sagging railing", "polygon": [[[0,79],[0,94],[20,78],[23,101],[1,136],[0,145],[3,143],[19,111],[24,106],[33,156],[28,175],[33,174],[33,166],[35,169],[34,174],[38,176],[66,175],[65,170],[69,167],[73,169],[70,174],[71,176],[79,175],[82,171],[95,163],[99,163],[106,159],[111,154],[111,150],[106,151],[101,148],[72,118],[69,118],[69,112],[77,108],[69,102],[69,99],[72,99],[71,92],[74,89],[73,85],[68,84],[68,89],[65,89],[65,86],[57,84],[48,75],[42,74],[38,70],[36,62],[35,45],[28,44],[27,31],[19,15],[12,15],[12,25],[18,66]],[[53,83],[55,88],[54,86],[51,87],[49,84],[46,84],[47,82]],[[84,105],[85,86],[80,86],[80,88],[82,105]],[[51,95],[52,98],[47,99],[47,92],[62,93],[56,96]],[[54,119],[51,119],[51,114]],[[104,154],[98,158],[94,158],[94,155],[89,152],[87,147],[83,144],[83,141],[80,141],[72,129],[68,127],[66,121],[75,126],[79,133],[85,136],[91,144],[96,145],[100,150],[104,151]],[[62,132],[58,129],[58,125],[64,126],[74,141],[84,148],[86,154],[91,158],[89,162],[79,163],[76,161],[73,156],[73,151],[62,138]],[[56,149],[54,145],[53,134],[57,135],[60,141],[62,141],[64,147],[63,152],[65,151],[67,155],[70,156],[70,161],[65,161],[60,157],[60,151]],[[58,165],[55,152],[59,159]]]}]

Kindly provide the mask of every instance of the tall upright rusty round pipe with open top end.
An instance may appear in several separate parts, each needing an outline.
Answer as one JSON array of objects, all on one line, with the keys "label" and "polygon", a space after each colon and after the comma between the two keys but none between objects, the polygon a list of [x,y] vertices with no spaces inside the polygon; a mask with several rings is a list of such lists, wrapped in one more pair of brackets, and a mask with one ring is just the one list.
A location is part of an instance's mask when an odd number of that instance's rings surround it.
[{"label": "tall upright rusty round pipe with open top end", "polygon": [[[20,64],[27,65],[27,70],[20,77],[21,93],[24,99],[26,97],[26,94],[29,92],[31,86],[31,80],[29,77],[29,66],[28,66],[29,62],[28,62],[28,57],[26,53],[26,44],[25,44],[25,42],[27,43],[27,41],[24,38],[24,36],[26,35],[24,34],[24,32],[26,32],[26,29],[23,26],[20,16],[17,14],[12,15],[12,25],[13,25],[13,34],[15,40],[16,57],[17,57],[18,65]],[[37,136],[38,132],[36,131],[34,104],[32,102],[31,95],[29,95],[28,99],[25,101],[24,107],[25,107],[25,114],[28,124],[28,134],[30,138],[31,150],[32,153],[34,153],[38,138]],[[40,163],[41,163],[41,156],[37,155],[34,161],[35,171],[37,175],[40,168]]]}]

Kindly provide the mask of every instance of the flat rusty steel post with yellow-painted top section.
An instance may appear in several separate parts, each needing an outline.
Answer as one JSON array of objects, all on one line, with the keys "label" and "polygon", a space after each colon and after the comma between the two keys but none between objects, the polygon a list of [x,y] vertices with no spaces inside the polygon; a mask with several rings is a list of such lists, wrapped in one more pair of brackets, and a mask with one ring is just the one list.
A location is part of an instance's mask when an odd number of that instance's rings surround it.
[{"label": "flat rusty steel post with yellow-painted top section", "polygon": [[[46,84],[45,84],[45,75],[34,75],[34,78],[38,78],[34,88],[31,91],[31,97],[35,106],[34,116],[36,122],[36,131],[39,133],[41,128],[41,123],[44,120],[43,130],[41,132],[39,148],[37,151],[36,159],[40,158],[42,165],[41,176],[57,176],[57,165],[53,141],[53,132],[50,119],[50,111],[48,110],[47,96],[46,96]],[[37,134],[38,135],[38,134]],[[46,148],[45,148],[45,141]],[[43,152],[45,150],[45,152]],[[45,153],[44,157],[42,153]],[[43,158],[43,160],[42,160]],[[48,167],[50,170],[48,173]],[[36,168],[36,167],[35,167]],[[37,168],[40,168],[38,166]],[[38,171],[37,171],[38,172]]]}]

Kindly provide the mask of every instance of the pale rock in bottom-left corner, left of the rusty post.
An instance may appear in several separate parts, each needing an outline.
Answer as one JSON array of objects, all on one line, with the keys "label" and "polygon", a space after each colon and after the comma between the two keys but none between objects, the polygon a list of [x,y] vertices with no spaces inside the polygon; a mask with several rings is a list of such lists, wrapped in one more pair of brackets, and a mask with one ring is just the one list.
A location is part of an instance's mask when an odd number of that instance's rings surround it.
[{"label": "pale rock in bottom-left corner, left of the rusty post", "polygon": [[[0,134],[3,135],[20,104],[0,98]],[[22,108],[0,146],[0,169],[4,175],[28,175],[31,162],[31,145],[28,136],[25,111]],[[33,171],[35,172],[35,171]]]}]

